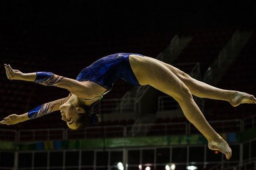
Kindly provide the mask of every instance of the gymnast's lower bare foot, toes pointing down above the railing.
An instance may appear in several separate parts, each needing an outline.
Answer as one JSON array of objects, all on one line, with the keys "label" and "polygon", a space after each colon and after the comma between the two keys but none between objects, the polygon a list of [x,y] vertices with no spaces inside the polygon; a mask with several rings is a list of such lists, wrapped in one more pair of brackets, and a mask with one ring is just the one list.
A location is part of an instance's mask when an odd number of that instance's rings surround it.
[{"label": "gymnast's lower bare foot, toes pointing down above the railing", "polygon": [[218,150],[221,153],[224,153],[227,159],[230,159],[230,157],[232,156],[231,148],[229,147],[227,142],[224,141],[224,139],[222,138],[220,138],[218,142],[214,142],[214,141],[209,142],[208,147],[210,150]]}]

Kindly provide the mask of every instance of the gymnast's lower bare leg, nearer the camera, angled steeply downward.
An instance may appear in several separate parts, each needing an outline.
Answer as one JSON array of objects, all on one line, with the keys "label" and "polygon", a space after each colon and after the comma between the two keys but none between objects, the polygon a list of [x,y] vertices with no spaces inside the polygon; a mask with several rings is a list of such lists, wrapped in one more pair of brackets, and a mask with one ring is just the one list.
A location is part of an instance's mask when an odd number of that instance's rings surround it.
[{"label": "gymnast's lower bare leg, nearer the camera, angled steeply downward", "polygon": [[231,157],[231,149],[227,142],[212,129],[193,100],[189,88],[172,71],[158,62],[148,59],[138,65],[133,60],[130,63],[139,82],[147,81],[149,85],[172,96],[179,103],[189,122],[206,137],[210,149],[221,151],[227,159]]}]

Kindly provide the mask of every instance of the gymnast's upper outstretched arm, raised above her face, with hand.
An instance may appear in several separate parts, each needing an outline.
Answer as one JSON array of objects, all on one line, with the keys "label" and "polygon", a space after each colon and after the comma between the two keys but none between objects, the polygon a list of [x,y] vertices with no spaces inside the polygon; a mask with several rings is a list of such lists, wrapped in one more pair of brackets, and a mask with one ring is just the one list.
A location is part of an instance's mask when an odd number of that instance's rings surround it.
[{"label": "gymnast's upper outstretched arm, raised above her face, with hand", "polygon": [[5,64],[4,66],[8,79],[24,80],[36,82],[41,85],[65,88],[72,94],[82,98],[88,98],[91,92],[91,89],[86,82],[79,82],[75,79],[58,76],[51,72],[22,73],[18,70],[13,70],[10,65]]}]

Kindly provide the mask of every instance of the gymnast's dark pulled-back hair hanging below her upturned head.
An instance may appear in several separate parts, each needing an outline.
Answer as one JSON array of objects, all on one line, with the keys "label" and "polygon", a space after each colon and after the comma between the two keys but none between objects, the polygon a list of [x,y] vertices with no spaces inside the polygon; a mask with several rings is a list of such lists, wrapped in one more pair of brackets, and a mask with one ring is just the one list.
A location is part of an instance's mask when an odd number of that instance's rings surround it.
[{"label": "gymnast's dark pulled-back hair hanging below her upturned head", "polygon": [[86,113],[80,113],[79,118],[77,119],[78,128],[76,130],[84,129],[88,126],[101,122],[99,115],[90,111],[90,106],[81,105],[81,107]]}]

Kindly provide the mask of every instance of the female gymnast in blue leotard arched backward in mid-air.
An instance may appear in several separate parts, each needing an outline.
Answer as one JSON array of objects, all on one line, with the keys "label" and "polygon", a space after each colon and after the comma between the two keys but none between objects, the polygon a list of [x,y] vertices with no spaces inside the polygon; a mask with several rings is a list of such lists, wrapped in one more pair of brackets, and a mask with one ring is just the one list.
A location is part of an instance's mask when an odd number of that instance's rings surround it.
[{"label": "female gymnast in blue leotard arched backward in mid-air", "polygon": [[80,129],[99,122],[95,113],[90,113],[89,106],[102,99],[118,78],[132,85],[151,85],[172,96],[180,105],[184,115],[208,140],[211,150],[219,150],[231,157],[227,142],[212,129],[192,94],[202,98],[225,100],[234,107],[241,103],[256,103],[256,98],[239,91],[215,88],[193,79],[183,71],[157,59],[140,54],[118,53],[103,57],[84,68],[76,79],[61,77],[50,72],[22,73],[4,65],[8,79],[36,82],[41,85],[57,86],[70,91],[63,99],[45,103],[22,115],[12,114],[0,123],[13,125],[29,119],[38,118],[60,110],[62,120],[71,129]]}]

